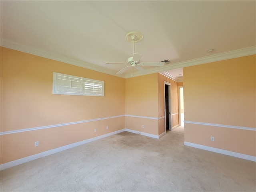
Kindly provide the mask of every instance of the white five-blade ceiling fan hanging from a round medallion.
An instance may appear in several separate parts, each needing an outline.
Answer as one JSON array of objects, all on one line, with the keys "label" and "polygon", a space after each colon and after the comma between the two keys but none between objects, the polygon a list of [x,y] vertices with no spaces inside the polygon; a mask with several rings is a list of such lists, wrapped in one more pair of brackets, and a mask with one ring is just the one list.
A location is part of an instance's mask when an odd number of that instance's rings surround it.
[{"label": "white five-blade ceiling fan hanging from a round medallion", "polygon": [[134,66],[138,71],[140,71],[142,74],[146,74],[147,71],[144,70],[141,66],[164,66],[164,62],[140,62],[141,54],[135,53],[135,42],[141,41],[143,38],[142,34],[137,31],[128,32],[126,34],[126,39],[130,42],[133,42],[133,56],[128,58],[126,63],[110,63],[106,62],[105,64],[129,64],[129,66],[126,66],[125,68],[118,71],[116,74],[122,74],[129,68],[132,69]]}]

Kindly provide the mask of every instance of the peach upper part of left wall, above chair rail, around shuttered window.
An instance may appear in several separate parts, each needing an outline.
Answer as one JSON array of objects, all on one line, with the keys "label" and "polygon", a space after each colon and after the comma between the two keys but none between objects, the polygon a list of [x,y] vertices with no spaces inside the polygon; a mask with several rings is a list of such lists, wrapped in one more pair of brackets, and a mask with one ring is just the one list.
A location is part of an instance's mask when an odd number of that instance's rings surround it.
[{"label": "peach upper part of left wall, above chair rail, around shuttered window", "polygon": [[[102,80],[105,96],[52,94],[53,72]],[[123,78],[1,48],[1,131],[124,114],[124,85]]]}]

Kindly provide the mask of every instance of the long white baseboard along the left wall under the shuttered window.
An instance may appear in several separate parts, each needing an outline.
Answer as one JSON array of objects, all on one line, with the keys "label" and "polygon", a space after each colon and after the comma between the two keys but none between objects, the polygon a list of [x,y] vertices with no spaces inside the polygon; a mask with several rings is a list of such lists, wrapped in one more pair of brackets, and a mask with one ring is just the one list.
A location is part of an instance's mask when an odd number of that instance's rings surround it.
[{"label": "long white baseboard along the left wall under the shuttered window", "polygon": [[70,148],[74,148],[74,147],[77,147],[77,146],[80,146],[80,145],[83,145],[83,144],[86,144],[86,143],[89,143],[89,142],[92,142],[92,141],[95,141],[95,140],[98,140],[98,139],[102,139],[102,138],[105,138],[105,137],[108,137],[108,136],[112,136],[114,134],[118,134],[118,133],[124,132],[124,131],[125,131],[125,129],[121,129],[121,130],[114,131],[114,132],[111,132],[111,133],[108,133],[108,134],[104,134],[104,135],[97,136],[97,137],[94,137],[94,138],[86,139],[86,140],[83,140],[83,141],[80,141],[80,142],[72,143],[72,144],[69,144],[69,145],[66,145],[66,146],[58,147],[58,148],[48,150],[48,151],[45,151],[45,152],[42,152],[42,153],[34,154],[34,155],[31,155],[31,156],[28,156],[28,157],[24,157],[24,158],[21,158],[21,159],[18,159],[18,160],[14,160],[14,161],[11,161],[11,162],[8,162],[8,163],[4,163],[0,166],[0,170],[4,170],[4,169],[10,168],[10,167],[13,167],[13,166],[16,166],[16,165],[20,165],[20,164],[23,164],[23,163],[26,163],[26,162],[29,162],[29,161],[32,161],[32,160],[36,160],[36,159],[39,159],[39,158],[42,158],[42,157],[45,157],[45,156],[48,156],[48,155],[52,155],[54,153],[58,153],[58,152],[61,152],[61,151],[64,151],[64,150],[67,150],[67,149],[70,149]]}]

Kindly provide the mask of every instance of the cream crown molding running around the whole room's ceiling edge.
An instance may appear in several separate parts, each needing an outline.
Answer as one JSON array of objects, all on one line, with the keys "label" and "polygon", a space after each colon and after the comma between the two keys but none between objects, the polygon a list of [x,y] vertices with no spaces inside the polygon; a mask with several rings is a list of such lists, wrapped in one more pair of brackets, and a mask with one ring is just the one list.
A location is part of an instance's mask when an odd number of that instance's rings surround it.
[{"label": "cream crown molding running around the whole room's ceiling edge", "polygon": [[[10,49],[14,49],[14,50],[18,50],[18,51],[21,51],[21,52],[26,52],[26,53],[29,53],[29,54],[41,56],[41,57],[44,57],[44,58],[48,58],[48,59],[52,59],[52,60],[72,64],[72,65],[79,66],[79,67],[82,67],[82,68],[87,68],[87,69],[90,69],[90,70],[102,72],[102,73],[105,73],[105,74],[118,76],[118,77],[121,77],[121,78],[132,78],[132,77],[143,75],[140,72],[134,72],[132,74],[132,76],[131,76],[131,74],[126,74],[126,75],[116,74],[115,72],[113,72],[111,70],[108,70],[106,68],[103,68],[103,67],[100,67],[100,66],[88,63],[88,62],[84,62],[82,60],[78,60],[78,59],[68,57],[68,56],[63,56],[63,55],[56,54],[56,53],[53,53],[53,52],[47,52],[45,50],[32,48],[32,47],[22,45],[22,44],[17,44],[15,42],[12,42],[12,41],[9,41],[9,40],[1,39],[1,46],[6,47],[6,48],[10,48]],[[152,73],[158,73],[159,72],[159,73],[165,75],[164,72],[167,72],[167,71],[173,70],[173,69],[177,69],[177,68],[184,68],[184,67],[188,67],[188,66],[194,66],[194,65],[216,62],[216,61],[220,61],[220,60],[232,59],[232,58],[237,58],[237,57],[242,57],[242,56],[249,56],[249,55],[254,55],[254,54],[256,54],[256,46],[252,46],[252,47],[248,47],[248,48],[242,48],[242,49],[233,50],[233,51],[229,51],[229,52],[224,52],[224,53],[220,53],[220,54],[215,54],[215,55],[211,55],[211,56],[206,56],[206,57],[202,57],[202,58],[196,58],[196,59],[187,60],[187,61],[184,61],[184,62],[177,62],[177,63],[173,63],[173,64],[168,64],[168,65],[163,66],[163,67],[156,67],[156,68],[148,69],[146,71],[148,72],[147,74],[152,74]],[[179,79],[176,80],[176,78],[174,78],[173,80],[175,80],[177,82],[180,81]]]}]

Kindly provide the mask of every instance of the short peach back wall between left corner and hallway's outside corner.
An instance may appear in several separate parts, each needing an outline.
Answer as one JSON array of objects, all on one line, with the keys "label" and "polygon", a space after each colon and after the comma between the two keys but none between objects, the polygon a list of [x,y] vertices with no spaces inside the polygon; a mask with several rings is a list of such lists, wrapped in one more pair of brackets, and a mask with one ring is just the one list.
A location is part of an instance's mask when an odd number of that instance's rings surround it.
[{"label": "short peach back wall between left corner and hallway's outside corner", "polygon": [[126,79],[125,128],[158,136],[157,77],[154,73]]}]

